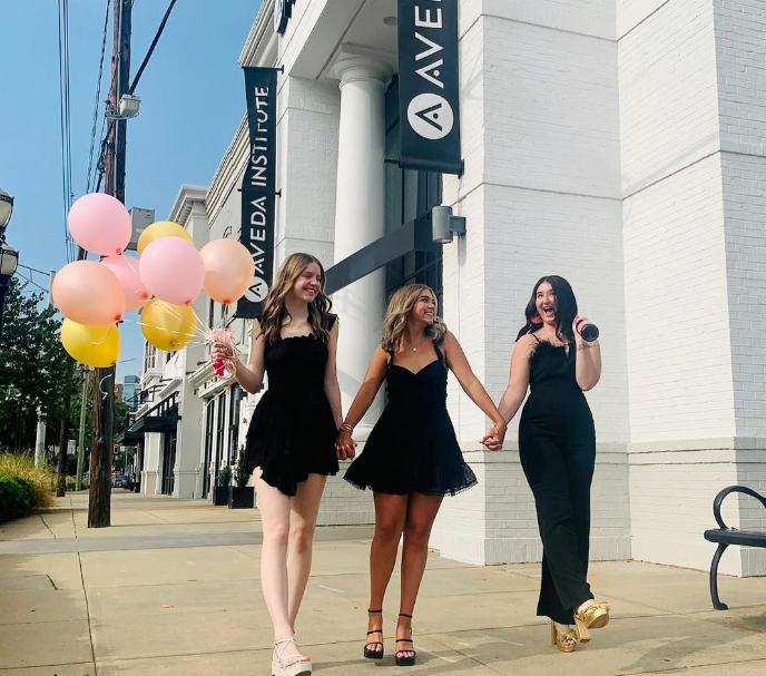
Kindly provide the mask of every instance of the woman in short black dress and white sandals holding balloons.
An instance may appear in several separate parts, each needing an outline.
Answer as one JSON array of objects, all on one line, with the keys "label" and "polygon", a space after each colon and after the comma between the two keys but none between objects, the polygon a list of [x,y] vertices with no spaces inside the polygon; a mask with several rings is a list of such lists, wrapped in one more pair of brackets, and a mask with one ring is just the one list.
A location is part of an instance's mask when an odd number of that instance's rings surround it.
[{"label": "woman in short black dress and white sandals holding balloons", "polygon": [[[258,392],[268,374],[246,449],[263,523],[261,585],[274,626],[274,676],[312,673],[295,643],[295,618],[324,484],[338,470],[337,322],[330,307],[320,262],[310,254],[288,256],[253,323],[247,366],[236,363],[237,381],[248,392]],[[226,356],[225,345],[214,344],[213,359]]]}]

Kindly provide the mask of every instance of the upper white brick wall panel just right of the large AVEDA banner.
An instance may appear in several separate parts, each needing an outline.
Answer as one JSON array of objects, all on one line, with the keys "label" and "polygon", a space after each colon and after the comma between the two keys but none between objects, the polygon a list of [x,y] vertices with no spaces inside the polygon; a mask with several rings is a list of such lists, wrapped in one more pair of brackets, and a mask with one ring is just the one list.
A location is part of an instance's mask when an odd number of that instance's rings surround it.
[{"label": "upper white brick wall panel just right of the large AVEDA banner", "polygon": [[503,19],[483,38],[487,183],[619,198],[616,43]]}]

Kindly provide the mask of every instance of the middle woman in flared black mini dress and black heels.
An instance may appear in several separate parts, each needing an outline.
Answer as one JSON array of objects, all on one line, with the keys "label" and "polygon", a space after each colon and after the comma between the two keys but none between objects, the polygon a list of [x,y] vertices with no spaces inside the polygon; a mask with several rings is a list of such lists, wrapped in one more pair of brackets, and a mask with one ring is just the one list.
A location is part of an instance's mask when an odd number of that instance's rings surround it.
[{"label": "middle woman in flared black mini dress and black heels", "polygon": [[396,625],[396,664],[415,663],[412,611],[428,558],[429,536],[445,494],[475,484],[463,461],[446,412],[446,375],[451,370],[467,394],[493,421],[488,437],[502,442],[505,422],[471,371],[458,340],[436,316],[431,288],[411,284],[391,297],[382,344],[375,349],[345,422],[338,452],[353,454],[352,432],[385,380],[389,401],[345,479],[371,488],[375,500],[375,535],[370,551],[370,617],[364,656],[383,657],[383,596],[402,550],[402,595]]}]

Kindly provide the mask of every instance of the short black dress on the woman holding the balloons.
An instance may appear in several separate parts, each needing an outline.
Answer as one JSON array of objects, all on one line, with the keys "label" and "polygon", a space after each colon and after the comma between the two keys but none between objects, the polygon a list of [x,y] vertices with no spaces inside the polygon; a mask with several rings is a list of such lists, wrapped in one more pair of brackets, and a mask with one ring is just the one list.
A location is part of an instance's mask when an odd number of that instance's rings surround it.
[{"label": "short black dress on the woman holding the balloons", "polygon": [[324,392],[327,356],[327,345],[313,335],[278,339],[264,350],[268,389],[247,430],[247,468],[262,468],[263,480],[286,496],[308,474],[338,470],[337,429]]}]

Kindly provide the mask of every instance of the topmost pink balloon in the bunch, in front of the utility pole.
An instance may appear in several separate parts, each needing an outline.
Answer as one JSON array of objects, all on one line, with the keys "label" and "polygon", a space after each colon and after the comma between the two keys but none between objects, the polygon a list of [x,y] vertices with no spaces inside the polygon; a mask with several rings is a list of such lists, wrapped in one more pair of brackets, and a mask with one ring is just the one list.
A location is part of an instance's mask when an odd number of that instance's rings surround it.
[{"label": "topmost pink balloon in the bunch, in front of the utility pole", "polygon": [[80,197],[69,209],[68,223],[75,242],[101,256],[121,254],[132,234],[128,209],[104,193]]}]

